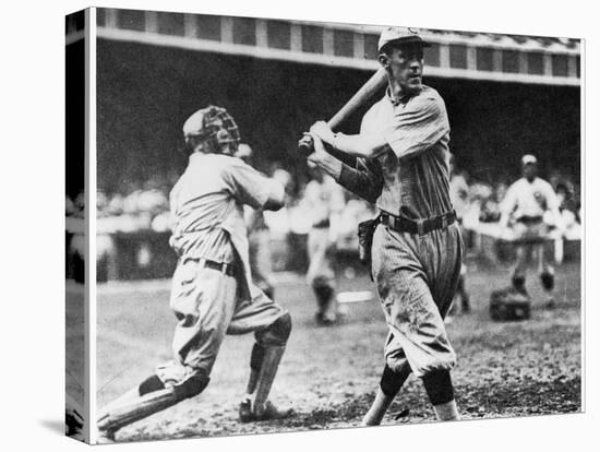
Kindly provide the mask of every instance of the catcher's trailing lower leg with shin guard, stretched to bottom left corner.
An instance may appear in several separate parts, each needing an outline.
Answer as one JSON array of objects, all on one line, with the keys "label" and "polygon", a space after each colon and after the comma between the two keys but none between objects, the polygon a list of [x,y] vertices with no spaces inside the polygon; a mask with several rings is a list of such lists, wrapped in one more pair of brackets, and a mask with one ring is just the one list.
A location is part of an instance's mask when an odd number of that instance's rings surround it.
[{"label": "catcher's trailing lower leg with shin guard, stretched to bottom left corner", "polygon": [[181,383],[167,386],[156,374],[153,374],[134,389],[136,392],[134,396],[123,396],[100,411],[98,430],[104,435],[112,436],[129,424],[200,394],[208,382],[208,377],[196,372]]}]

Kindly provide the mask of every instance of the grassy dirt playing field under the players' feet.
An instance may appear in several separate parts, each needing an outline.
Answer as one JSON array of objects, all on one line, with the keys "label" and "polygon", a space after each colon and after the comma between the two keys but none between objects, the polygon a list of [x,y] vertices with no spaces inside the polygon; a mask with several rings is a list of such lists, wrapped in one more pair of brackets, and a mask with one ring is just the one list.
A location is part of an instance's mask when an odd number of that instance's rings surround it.
[{"label": "grassy dirt playing field under the players' feet", "polygon": [[[472,312],[447,325],[458,355],[453,372],[463,418],[574,413],[581,409],[580,269],[557,269],[557,307],[542,308],[533,272],[531,320],[492,322],[490,292],[504,287],[508,269],[470,269]],[[340,277],[340,290],[374,289],[363,275]],[[175,317],[165,284],[100,286],[98,294],[98,405],[118,396],[170,358]],[[272,392],[296,416],[279,421],[239,424],[237,407],[245,388],[252,336],[226,338],[212,382],[197,397],[154,415],[117,435],[118,441],[224,436],[353,427],[379,384],[386,326],[376,299],[348,305],[343,322],[314,324],[314,300],[302,278],[281,283],[276,298],[291,312],[293,331]],[[384,425],[433,421],[419,380],[411,378]]]}]

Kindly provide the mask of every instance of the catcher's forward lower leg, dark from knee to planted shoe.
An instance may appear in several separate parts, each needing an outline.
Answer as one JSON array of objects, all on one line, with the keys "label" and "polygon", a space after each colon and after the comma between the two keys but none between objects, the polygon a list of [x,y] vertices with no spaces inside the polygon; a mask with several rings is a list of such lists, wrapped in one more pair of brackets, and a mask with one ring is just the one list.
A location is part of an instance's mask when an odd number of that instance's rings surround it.
[{"label": "catcher's forward lower leg, dark from knee to planted shoe", "polygon": [[[281,418],[291,414],[291,411],[279,411],[268,402],[268,394],[290,333],[291,317],[288,312],[267,329],[256,333],[256,343],[252,347],[250,357],[248,399],[242,402],[239,412],[242,423]],[[250,396],[254,393],[252,402]]]}]

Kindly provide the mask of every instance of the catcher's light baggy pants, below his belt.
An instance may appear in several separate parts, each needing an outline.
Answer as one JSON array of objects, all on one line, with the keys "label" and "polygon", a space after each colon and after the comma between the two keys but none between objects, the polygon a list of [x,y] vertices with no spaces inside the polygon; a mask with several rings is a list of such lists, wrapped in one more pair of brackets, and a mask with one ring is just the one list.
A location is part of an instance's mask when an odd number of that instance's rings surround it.
[{"label": "catcher's light baggy pants, below his belt", "polygon": [[208,377],[226,334],[254,332],[262,345],[285,345],[264,332],[287,310],[256,286],[249,289],[243,275],[228,276],[199,260],[178,264],[170,298],[178,319],[175,359],[156,371],[164,383],[181,382],[196,372]]}]

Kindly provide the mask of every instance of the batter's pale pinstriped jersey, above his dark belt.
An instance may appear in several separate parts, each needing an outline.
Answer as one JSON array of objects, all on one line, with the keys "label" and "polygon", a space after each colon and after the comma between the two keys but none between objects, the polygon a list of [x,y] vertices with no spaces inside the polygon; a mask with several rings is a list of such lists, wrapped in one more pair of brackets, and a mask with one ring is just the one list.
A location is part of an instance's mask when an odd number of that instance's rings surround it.
[{"label": "batter's pale pinstriped jersey, above his dark belt", "polygon": [[363,117],[361,134],[383,134],[389,150],[379,156],[384,185],[379,209],[429,218],[452,211],[448,193],[449,123],[444,100],[423,85],[408,99],[387,94]]}]

